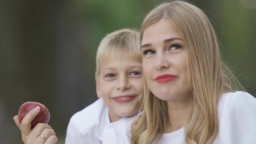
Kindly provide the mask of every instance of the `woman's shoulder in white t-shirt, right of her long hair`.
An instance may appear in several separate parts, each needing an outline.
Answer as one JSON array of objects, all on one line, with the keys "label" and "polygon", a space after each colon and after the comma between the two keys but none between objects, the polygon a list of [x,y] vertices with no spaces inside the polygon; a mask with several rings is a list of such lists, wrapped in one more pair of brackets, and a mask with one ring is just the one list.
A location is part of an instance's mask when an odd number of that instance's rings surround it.
[{"label": "woman's shoulder in white t-shirt, right of her long hair", "polygon": [[224,93],[218,105],[219,134],[213,144],[254,144],[256,98],[247,92]]}]

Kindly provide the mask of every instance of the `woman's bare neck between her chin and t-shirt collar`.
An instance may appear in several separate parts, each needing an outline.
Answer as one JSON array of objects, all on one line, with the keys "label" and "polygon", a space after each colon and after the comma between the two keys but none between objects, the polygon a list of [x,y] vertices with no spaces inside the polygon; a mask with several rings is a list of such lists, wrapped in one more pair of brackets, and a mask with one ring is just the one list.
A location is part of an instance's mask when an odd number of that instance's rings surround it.
[{"label": "woman's bare neck between her chin and t-shirt collar", "polygon": [[171,133],[183,128],[187,118],[193,110],[192,99],[186,98],[181,101],[167,101],[169,125],[165,133]]}]

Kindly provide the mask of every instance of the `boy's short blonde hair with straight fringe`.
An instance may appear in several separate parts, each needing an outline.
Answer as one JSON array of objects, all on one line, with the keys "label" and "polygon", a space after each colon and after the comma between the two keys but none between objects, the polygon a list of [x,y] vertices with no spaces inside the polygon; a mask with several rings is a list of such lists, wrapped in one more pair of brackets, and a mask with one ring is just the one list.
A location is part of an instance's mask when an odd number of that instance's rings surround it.
[{"label": "boy's short blonde hair with straight fringe", "polygon": [[98,46],[95,79],[100,75],[101,64],[107,59],[133,57],[142,62],[140,34],[131,29],[120,29],[105,36]]}]

